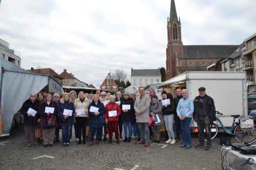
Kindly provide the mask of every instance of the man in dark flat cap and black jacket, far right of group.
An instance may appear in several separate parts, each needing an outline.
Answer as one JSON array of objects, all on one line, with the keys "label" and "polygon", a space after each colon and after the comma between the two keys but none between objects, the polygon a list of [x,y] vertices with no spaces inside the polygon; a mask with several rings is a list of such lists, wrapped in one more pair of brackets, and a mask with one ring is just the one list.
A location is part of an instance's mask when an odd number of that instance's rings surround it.
[{"label": "man in dark flat cap and black jacket, far right of group", "polygon": [[206,131],[207,144],[205,150],[211,149],[211,132],[210,123],[216,120],[216,110],[214,100],[205,93],[205,87],[198,89],[199,95],[194,100],[195,111],[193,118],[198,125],[199,129],[199,144],[196,148],[204,148],[204,129]]}]

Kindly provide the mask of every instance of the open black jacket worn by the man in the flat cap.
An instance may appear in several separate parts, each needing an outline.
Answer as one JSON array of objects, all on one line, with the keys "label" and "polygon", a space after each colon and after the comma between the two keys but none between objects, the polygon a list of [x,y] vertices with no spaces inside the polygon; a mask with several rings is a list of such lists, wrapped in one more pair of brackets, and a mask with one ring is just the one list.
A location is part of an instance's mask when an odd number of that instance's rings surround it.
[{"label": "open black jacket worn by the man in the flat cap", "polygon": [[[215,110],[215,105],[214,105],[214,100],[207,94],[205,94],[206,102],[205,102],[205,108],[208,114],[208,117],[210,119],[210,122],[214,122],[216,120],[216,110]],[[195,122],[198,121],[199,113],[198,113],[198,108],[199,108],[199,99],[200,95],[196,96],[194,99],[194,113],[193,113],[193,118]]]}]

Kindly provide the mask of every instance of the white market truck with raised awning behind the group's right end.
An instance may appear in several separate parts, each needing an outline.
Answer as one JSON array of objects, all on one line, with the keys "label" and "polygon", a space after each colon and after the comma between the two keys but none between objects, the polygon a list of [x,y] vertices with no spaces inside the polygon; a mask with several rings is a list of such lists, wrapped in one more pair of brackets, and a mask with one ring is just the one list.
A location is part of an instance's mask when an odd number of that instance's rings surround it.
[{"label": "white market truck with raised awning behind the group's right end", "polygon": [[[232,124],[233,118],[230,115],[248,115],[246,72],[244,71],[189,71],[157,86],[164,87],[164,90],[171,92],[174,96],[177,88],[187,89],[189,98],[193,100],[199,95],[198,88],[205,87],[206,94],[214,99],[216,111],[223,113],[220,119],[225,127],[230,127]],[[191,131],[197,128],[193,119],[190,128]]]}]

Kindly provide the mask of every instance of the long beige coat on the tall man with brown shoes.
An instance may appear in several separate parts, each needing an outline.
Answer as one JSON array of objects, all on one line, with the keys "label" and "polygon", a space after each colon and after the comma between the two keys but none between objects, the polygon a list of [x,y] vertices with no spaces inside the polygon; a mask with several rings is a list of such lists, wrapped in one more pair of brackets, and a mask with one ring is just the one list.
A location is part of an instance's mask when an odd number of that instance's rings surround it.
[{"label": "long beige coat on the tall man with brown shoes", "polygon": [[148,123],[150,122],[150,97],[148,95],[142,95],[141,99],[140,96],[136,98],[136,101],[134,103],[134,110],[135,113],[137,111],[141,111],[142,114],[138,114],[136,116],[136,122],[137,123]]}]

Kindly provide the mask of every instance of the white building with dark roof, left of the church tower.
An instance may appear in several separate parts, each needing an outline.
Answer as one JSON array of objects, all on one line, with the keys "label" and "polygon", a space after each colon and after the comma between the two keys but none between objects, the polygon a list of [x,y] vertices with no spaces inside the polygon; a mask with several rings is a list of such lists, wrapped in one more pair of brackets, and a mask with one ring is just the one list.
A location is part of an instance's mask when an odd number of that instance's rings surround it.
[{"label": "white building with dark roof, left of the church tower", "polygon": [[161,83],[161,72],[158,69],[131,69],[131,86],[124,89],[127,93],[136,93],[140,86]]}]

